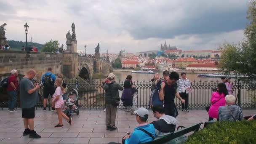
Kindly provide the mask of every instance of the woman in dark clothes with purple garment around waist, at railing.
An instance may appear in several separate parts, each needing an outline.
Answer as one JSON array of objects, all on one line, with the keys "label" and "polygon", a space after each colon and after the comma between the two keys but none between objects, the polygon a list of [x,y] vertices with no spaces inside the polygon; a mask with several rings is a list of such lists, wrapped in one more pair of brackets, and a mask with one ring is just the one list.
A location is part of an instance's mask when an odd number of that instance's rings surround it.
[{"label": "woman in dark clothes with purple garment around waist, at railing", "polygon": [[125,111],[131,112],[131,106],[133,105],[132,88],[134,88],[131,75],[128,75],[126,77],[123,87],[124,87],[124,90],[122,93],[121,100],[123,101],[123,106],[125,107]]}]

